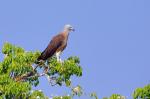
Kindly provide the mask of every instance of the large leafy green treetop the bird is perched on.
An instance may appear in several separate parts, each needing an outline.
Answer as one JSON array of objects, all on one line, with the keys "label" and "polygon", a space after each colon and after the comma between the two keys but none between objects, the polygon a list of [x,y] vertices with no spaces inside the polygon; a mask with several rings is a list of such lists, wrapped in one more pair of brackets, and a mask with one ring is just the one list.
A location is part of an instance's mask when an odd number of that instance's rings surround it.
[{"label": "large leafy green treetop the bird is perched on", "polygon": [[[71,88],[69,96],[53,97],[53,99],[71,99],[81,95],[81,87],[72,87],[71,76],[82,76],[80,60],[76,56],[69,57],[63,63],[55,57],[37,64],[39,51],[25,51],[23,48],[5,43],[2,48],[4,59],[0,62],[0,98],[4,99],[48,99],[40,90],[32,90],[38,86],[39,77],[46,76],[51,86],[65,85]],[[37,68],[43,70],[39,72]]]}]

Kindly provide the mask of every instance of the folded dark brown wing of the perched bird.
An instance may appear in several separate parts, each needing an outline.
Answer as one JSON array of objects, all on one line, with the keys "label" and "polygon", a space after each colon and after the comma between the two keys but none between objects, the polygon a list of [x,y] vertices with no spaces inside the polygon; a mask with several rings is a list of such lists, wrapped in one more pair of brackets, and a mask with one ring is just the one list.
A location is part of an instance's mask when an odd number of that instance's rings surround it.
[{"label": "folded dark brown wing of the perched bird", "polygon": [[59,34],[50,41],[47,48],[41,53],[41,55],[38,57],[37,60],[46,60],[50,57],[52,57],[57,49],[63,45],[64,36]]}]

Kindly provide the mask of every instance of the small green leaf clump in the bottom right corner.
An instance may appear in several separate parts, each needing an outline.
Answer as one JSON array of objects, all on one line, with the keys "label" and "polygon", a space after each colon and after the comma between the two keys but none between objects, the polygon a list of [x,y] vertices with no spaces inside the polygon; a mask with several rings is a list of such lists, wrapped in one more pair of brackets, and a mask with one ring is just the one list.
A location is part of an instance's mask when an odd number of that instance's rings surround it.
[{"label": "small green leaf clump in the bottom right corner", "polygon": [[137,88],[133,93],[134,99],[150,99],[150,84],[144,88]]}]

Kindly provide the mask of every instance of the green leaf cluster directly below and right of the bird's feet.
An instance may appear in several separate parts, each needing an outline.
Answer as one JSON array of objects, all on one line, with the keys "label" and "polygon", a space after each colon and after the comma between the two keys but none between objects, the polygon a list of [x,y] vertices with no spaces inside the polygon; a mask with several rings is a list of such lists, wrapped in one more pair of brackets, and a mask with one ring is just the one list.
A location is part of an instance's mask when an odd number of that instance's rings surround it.
[{"label": "green leaf cluster directly below and right of the bird's feet", "polygon": [[52,85],[58,84],[61,86],[62,83],[65,82],[66,86],[70,86],[70,77],[72,75],[76,75],[78,77],[82,76],[82,68],[79,63],[80,61],[78,57],[70,57],[67,60],[64,60],[63,63],[57,62],[56,57],[49,59],[47,65],[50,70],[47,74],[48,76],[55,78],[55,80],[50,83]]}]

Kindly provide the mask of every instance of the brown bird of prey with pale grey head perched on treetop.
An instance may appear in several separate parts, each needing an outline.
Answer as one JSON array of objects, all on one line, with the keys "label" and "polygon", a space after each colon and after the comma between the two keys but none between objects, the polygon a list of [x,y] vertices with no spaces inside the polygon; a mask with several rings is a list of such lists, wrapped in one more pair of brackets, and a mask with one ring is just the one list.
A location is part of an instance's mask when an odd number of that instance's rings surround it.
[{"label": "brown bird of prey with pale grey head perched on treetop", "polygon": [[52,38],[46,49],[41,53],[37,60],[39,62],[46,61],[48,58],[55,55],[57,62],[62,62],[60,55],[67,47],[68,37],[72,31],[75,31],[75,29],[70,24],[66,24],[63,30]]}]

